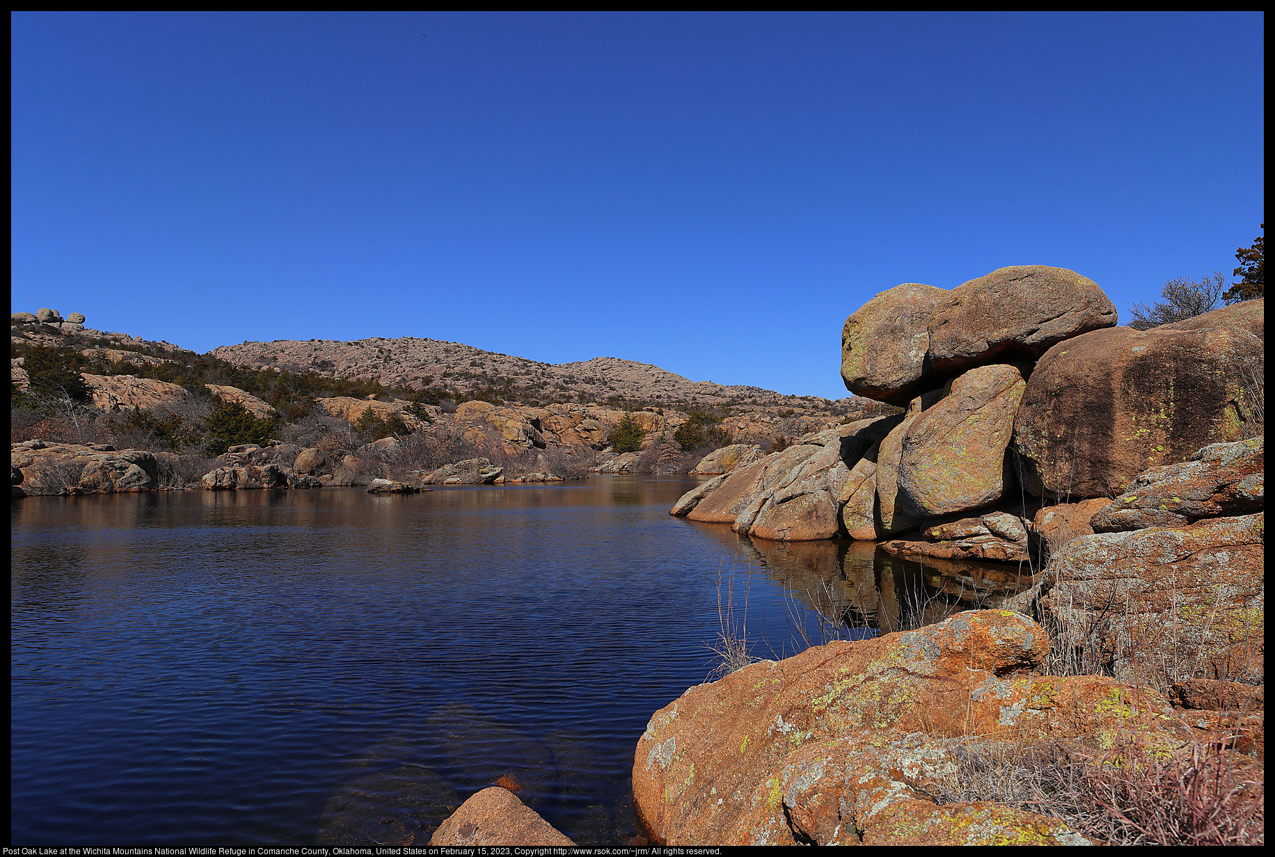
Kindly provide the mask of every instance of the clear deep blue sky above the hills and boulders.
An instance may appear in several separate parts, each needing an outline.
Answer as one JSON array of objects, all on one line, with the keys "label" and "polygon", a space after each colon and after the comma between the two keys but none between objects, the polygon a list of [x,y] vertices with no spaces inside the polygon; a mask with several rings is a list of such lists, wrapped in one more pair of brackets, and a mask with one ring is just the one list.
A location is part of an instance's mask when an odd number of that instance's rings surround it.
[{"label": "clear deep blue sky above the hills and boulders", "polygon": [[1260,13],[11,22],[13,310],[196,351],[414,335],[838,398],[885,288],[1060,265],[1127,320],[1264,219]]}]

